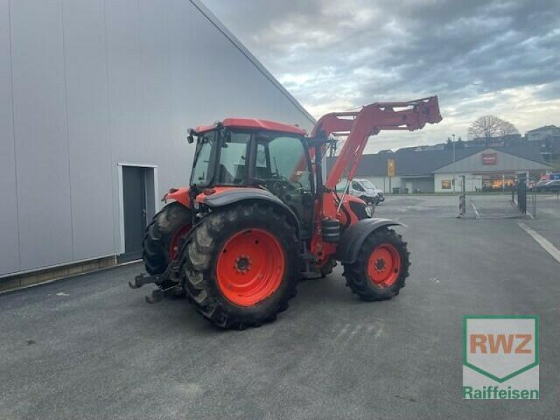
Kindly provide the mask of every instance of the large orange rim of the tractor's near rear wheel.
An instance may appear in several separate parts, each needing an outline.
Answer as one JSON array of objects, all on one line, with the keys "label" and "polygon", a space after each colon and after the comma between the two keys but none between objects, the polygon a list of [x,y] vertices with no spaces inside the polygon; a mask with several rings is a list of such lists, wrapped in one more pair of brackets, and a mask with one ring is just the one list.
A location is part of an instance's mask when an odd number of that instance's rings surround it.
[{"label": "large orange rim of the tractor's near rear wheel", "polygon": [[230,302],[253,306],[278,290],[284,263],[282,246],[274,235],[262,229],[236,233],[218,255],[218,288]]}]

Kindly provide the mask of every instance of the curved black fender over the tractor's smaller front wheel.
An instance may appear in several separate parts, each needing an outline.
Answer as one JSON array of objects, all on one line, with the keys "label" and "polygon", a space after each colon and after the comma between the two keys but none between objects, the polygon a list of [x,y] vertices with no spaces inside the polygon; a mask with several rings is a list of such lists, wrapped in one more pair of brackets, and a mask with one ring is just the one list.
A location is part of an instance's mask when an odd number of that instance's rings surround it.
[{"label": "curved black fender over the tractor's smaller front wheel", "polygon": [[342,234],[337,246],[335,259],[345,264],[356,262],[358,252],[365,238],[374,230],[393,225],[400,225],[406,228],[406,225],[386,218],[367,218],[354,223]]}]

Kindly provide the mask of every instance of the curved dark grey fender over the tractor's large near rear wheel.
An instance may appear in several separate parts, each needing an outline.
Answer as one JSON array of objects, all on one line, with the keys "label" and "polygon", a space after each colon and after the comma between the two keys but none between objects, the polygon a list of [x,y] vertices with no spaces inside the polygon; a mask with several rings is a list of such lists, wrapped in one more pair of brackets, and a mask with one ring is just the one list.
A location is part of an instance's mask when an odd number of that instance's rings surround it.
[{"label": "curved dark grey fender over the tractor's large near rear wheel", "polygon": [[237,187],[216,187],[212,188],[214,193],[209,195],[202,193],[197,195],[197,202],[206,204],[209,207],[223,207],[229,204],[246,200],[264,200],[273,204],[275,207],[286,212],[288,220],[295,226],[297,237],[300,235],[300,222],[290,207],[280,200],[276,195],[260,188],[237,188]]}]

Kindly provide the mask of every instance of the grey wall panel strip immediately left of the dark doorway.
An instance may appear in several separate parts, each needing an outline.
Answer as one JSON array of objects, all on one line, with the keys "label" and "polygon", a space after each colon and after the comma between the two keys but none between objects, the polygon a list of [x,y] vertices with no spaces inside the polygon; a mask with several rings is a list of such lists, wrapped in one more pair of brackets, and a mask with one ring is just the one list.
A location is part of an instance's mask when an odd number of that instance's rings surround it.
[{"label": "grey wall panel strip immediately left of the dark doorway", "polygon": [[104,1],[64,0],[73,259],[114,253]]}]

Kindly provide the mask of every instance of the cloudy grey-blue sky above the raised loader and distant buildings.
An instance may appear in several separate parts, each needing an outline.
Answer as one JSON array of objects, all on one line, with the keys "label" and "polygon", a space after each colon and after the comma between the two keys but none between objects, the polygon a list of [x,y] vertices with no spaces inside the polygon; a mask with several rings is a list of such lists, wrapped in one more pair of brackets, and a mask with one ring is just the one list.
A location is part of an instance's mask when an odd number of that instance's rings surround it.
[{"label": "cloudy grey-blue sky above the raised loader and distant buildings", "polygon": [[444,120],[368,151],[465,139],[477,117],[560,125],[560,1],[203,0],[316,118],[437,94]]}]

